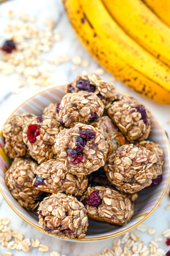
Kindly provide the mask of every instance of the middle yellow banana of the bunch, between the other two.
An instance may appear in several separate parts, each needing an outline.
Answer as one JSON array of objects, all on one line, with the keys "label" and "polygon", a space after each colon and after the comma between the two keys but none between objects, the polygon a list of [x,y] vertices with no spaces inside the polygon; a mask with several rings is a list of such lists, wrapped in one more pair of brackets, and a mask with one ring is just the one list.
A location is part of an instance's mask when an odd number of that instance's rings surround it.
[{"label": "middle yellow banana of the bunch, between the other two", "polygon": [[170,66],[170,28],[140,0],[102,0],[113,19],[154,56]]}]

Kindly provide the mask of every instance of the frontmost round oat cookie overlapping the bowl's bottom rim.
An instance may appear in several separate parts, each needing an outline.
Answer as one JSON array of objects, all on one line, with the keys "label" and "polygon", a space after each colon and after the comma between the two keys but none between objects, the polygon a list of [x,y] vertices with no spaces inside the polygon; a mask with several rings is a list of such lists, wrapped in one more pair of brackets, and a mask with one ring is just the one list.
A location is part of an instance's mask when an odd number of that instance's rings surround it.
[{"label": "frontmost round oat cookie overlapping the bowl's bottom rim", "polygon": [[38,207],[40,226],[60,238],[83,238],[88,227],[87,211],[75,197],[63,193],[44,198]]}]

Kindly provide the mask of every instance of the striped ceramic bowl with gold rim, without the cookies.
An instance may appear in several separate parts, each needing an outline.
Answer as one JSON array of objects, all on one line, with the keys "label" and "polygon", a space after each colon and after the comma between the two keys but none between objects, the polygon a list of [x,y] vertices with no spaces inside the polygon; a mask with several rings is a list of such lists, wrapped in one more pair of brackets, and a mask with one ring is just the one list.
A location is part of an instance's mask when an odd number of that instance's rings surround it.
[{"label": "striped ceramic bowl with gold rim, without the cookies", "polygon": [[[36,94],[23,104],[21,104],[13,114],[20,114],[22,112],[30,112],[35,115],[41,115],[43,109],[51,102],[60,102],[64,95],[64,87],[60,86],[52,88],[44,92]],[[119,92],[124,94],[123,92]],[[155,117],[152,115],[153,129],[150,133],[149,140],[159,143],[164,152],[164,165],[163,165],[163,181],[156,187],[147,187],[139,192],[139,198],[135,203],[135,213],[132,219],[123,227],[111,226],[107,223],[97,222],[89,220],[89,227],[86,233],[86,237],[83,239],[67,239],[70,241],[96,241],[100,239],[106,239],[123,234],[134,227],[138,226],[144,221],[159,205],[163,198],[170,179],[170,155],[169,155],[169,143],[167,136]],[[22,208],[18,202],[11,196],[8,187],[5,184],[4,176],[5,171],[10,166],[10,161],[4,153],[4,141],[1,133],[0,136],[0,191],[9,204],[9,206],[27,223],[37,228],[38,230],[45,232],[38,224],[38,216],[36,212],[27,211]]]}]

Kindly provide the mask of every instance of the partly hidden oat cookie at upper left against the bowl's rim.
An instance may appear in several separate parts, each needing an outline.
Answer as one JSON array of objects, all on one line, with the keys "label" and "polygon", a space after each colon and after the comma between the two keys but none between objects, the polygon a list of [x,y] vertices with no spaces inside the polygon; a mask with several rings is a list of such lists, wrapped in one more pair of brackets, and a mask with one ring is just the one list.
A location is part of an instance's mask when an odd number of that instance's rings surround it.
[{"label": "partly hidden oat cookie at upper left against the bowl's rim", "polygon": [[25,124],[33,117],[33,114],[22,113],[13,115],[8,119],[7,123],[2,127],[3,136],[5,138],[4,151],[10,158],[29,155],[27,146],[22,139],[22,131]]}]

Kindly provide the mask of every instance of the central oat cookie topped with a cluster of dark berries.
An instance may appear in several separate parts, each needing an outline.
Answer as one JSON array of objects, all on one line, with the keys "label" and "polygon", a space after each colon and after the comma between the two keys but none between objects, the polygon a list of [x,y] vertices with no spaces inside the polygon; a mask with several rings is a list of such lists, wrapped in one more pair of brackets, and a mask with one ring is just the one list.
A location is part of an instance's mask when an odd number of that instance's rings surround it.
[{"label": "central oat cookie topped with a cluster of dark berries", "polygon": [[102,131],[82,123],[60,131],[54,146],[65,169],[79,177],[103,166],[108,152]]}]

